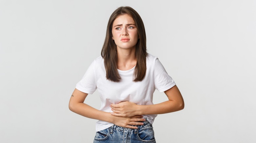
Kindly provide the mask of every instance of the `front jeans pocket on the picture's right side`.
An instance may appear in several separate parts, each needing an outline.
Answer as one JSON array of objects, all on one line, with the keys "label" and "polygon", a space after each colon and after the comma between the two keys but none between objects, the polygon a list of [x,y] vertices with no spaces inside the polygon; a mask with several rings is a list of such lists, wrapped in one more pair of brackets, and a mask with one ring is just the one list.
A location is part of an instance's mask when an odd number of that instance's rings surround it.
[{"label": "front jeans pocket on the picture's right side", "polygon": [[152,126],[139,129],[137,135],[142,142],[155,142],[155,133]]}]

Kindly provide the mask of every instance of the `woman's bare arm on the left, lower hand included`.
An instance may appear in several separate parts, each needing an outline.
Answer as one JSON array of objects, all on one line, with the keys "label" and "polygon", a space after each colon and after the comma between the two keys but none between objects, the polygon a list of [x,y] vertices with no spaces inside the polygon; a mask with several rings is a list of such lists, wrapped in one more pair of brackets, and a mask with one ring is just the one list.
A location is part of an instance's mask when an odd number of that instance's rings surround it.
[{"label": "woman's bare arm on the left, lower hand included", "polygon": [[83,103],[87,95],[87,93],[75,89],[69,101],[69,109],[84,117],[107,121],[121,127],[137,129],[137,127],[131,125],[143,124],[141,122],[138,122],[144,121],[144,119],[141,119],[142,116],[140,115],[133,117],[116,117],[112,116],[111,113],[97,110]]}]

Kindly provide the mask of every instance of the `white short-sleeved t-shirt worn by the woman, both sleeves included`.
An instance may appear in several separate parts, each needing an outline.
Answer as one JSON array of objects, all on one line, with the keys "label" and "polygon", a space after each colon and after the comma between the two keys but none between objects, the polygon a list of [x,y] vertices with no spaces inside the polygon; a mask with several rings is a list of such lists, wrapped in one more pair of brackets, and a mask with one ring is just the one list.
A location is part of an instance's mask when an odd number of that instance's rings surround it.
[{"label": "white short-sleeved t-shirt worn by the woman, both sleeves included", "polygon": [[[106,79],[104,59],[100,56],[93,61],[75,88],[88,94],[93,94],[98,89],[101,100],[99,110],[105,112],[113,112],[111,111],[110,104],[117,104],[122,101],[130,101],[139,105],[151,105],[153,104],[155,89],[159,92],[166,91],[175,86],[175,82],[167,74],[156,56],[148,54],[146,64],[146,75],[141,82],[133,82],[135,67],[128,71],[118,70],[121,81],[113,82]],[[147,118],[151,124],[157,117],[156,114],[142,116]],[[99,120],[96,123],[96,132],[112,125],[113,123]]]}]

